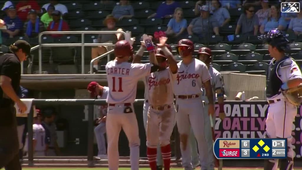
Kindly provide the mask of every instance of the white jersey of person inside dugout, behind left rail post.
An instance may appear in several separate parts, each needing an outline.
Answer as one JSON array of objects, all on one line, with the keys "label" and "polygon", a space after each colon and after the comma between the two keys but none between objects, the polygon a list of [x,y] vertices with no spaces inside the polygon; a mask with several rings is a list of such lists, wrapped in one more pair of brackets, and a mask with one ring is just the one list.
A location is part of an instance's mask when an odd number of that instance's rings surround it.
[{"label": "white jersey of person inside dugout, behind left rail post", "polygon": [[[46,150],[45,129],[41,124],[33,124],[33,132],[34,132],[33,139],[36,140],[35,151],[36,152],[45,151]],[[26,140],[24,145],[25,151],[28,151],[27,147],[28,147],[28,133],[26,135]]]}]

